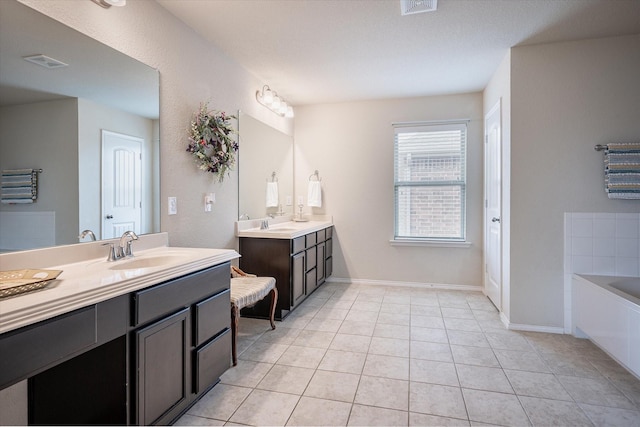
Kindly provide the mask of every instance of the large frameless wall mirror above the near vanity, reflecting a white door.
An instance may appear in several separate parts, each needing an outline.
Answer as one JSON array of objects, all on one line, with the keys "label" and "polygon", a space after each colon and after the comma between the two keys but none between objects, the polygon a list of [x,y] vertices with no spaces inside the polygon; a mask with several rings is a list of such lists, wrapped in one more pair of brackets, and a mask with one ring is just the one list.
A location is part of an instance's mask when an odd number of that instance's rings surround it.
[{"label": "large frameless wall mirror above the near vanity, reflecting a white door", "polygon": [[[0,1],[0,170],[30,168],[42,169],[35,202],[11,201],[2,184],[0,252],[78,243],[85,229],[160,230],[158,71]],[[132,217],[119,218],[123,206]]]}]

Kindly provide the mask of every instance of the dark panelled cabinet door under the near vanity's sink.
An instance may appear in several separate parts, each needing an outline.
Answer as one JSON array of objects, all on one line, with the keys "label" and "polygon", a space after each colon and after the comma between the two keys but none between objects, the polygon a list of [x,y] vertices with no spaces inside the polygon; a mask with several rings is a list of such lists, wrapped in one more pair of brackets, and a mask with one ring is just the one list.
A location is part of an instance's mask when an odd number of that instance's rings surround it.
[{"label": "dark panelled cabinet door under the near vanity's sink", "polygon": [[136,343],[135,423],[166,423],[189,401],[189,309],[134,332]]}]

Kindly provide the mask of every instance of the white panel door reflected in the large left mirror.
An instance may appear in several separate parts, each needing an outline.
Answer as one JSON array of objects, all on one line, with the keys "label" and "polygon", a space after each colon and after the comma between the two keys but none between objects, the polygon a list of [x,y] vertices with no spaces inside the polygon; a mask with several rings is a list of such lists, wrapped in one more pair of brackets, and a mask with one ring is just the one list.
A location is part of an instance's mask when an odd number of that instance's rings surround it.
[{"label": "white panel door reflected in the large left mirror", "polygon": [[140,233],[142,138],[102,131],[102,238]]}]

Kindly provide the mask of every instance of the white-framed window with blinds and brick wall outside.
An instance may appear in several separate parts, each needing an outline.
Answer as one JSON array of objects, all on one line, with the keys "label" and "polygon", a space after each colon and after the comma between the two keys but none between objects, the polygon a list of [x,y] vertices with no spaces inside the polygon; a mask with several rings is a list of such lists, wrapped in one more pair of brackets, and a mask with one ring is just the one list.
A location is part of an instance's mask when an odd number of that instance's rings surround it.
[{"label": "white-framed window with blinds and brick wall outside", "polygon": [[465,240],[467,125],[394,125],[395,239]]}]

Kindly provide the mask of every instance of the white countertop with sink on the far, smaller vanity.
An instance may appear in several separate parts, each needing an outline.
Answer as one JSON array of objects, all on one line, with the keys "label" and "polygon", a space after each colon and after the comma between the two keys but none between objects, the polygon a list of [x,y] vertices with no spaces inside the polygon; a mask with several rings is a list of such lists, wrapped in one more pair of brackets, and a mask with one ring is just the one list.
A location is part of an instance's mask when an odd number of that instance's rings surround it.
[{"label": "white countertop with sink on the far, smaller vanity", "polygon": [[260,229],[262,219],[238,221],[236,222],[236,236],[263,239],[295,239],[333,225],[333,220],[330,216],[308,216],[305,219],[306,221],[295,221],[292,217],[269,218],[269,228],[266,230]]}]

